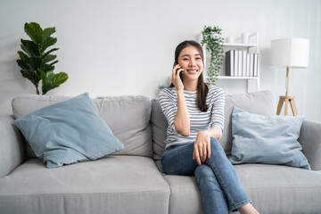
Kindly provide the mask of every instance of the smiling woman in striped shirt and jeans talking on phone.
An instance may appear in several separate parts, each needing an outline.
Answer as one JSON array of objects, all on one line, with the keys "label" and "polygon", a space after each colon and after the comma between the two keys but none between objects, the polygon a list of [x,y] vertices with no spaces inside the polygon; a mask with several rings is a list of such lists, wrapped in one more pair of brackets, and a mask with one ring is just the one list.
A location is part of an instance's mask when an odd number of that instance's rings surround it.
[{"label": "smiling woman in striped shirt and jeans talking on phone", "polygon": [[177,45],[175,62],[172,83],[159,95],[169,122],[161,157],[164,173],[194,175],[204,213],[258,213],[218,144],[223,133],[225,95],[218,86],[204,83],[202,46],[182,42]]}]

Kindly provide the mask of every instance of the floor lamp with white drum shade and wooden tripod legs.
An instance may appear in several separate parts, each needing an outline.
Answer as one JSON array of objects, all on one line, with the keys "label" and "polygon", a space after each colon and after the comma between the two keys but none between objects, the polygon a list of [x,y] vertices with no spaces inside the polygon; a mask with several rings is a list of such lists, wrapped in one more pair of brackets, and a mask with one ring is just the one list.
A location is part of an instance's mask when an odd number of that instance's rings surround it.
[{"label": "floor lamp with white drum shade and wooden tripod legs", "polygon": [[286,92],[285,96],[280,96],[276,114],[280,115],[283,104],[284,115],[287,115],[288,104],[290,102],[293,116],[298,115],[294,103],[294,96],[288,95],[289,91],[289,70],[304,69],[309,64],[309,39],[306,38],[283,38],[271,41],[271,66],[276,68],[286,68]]}]

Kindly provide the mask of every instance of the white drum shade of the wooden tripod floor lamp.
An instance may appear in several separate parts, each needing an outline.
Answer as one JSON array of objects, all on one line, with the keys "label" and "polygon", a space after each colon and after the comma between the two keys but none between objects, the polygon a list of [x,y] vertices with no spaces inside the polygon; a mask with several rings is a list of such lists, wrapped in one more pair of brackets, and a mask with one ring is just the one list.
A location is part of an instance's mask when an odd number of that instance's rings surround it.
[{"label": "white drum shade of the wooden tripod floor lamp", "polygon": [[309,65],[309,39],[283,38],[271,41],[271,66],[300,69]]}]

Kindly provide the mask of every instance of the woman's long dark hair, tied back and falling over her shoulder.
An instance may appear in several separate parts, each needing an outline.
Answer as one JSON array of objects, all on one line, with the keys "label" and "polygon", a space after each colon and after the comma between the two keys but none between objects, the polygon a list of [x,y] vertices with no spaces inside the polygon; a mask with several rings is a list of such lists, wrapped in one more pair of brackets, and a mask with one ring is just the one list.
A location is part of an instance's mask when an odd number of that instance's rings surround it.
[{"label": "woman's long dark hair, tied back and falling over her shoulder", "polygon": [[[184,42],[180,43],[179,45],[177,45],[177,48],[175,50],[175,62],[178,62],[179,53],[181,53],[181,51],[186,46],[189,46],[189,45],[194,46],[198,50],[198,52],[201,54],[202,62],[204,64],[204,57],[203,57],[204,54],[202,52],[202,46],[193,40],[187,40],[187,41],[184,41]],[[171,83],[169,87],[173,87],[173,86],[174,86],[174,84]],[[209,92],[209,86],[207,86],[204,83],[204,78],[201,73],[201,75],[197,81],[197,102],[196,102],[197,107],[199,108],[200,111],[206,112],[209,109],[209,106],[206,104],[206,97],[208,95],[208,92]]]}]

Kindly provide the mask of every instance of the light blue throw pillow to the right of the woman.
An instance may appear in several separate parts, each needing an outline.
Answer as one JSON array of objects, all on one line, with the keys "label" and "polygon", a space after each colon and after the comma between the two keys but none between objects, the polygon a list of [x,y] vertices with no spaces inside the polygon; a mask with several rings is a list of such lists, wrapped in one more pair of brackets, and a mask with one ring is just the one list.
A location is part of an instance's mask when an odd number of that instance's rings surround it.
[{"label": "light blue throw pillow to the right of the woman", "polygon": [[311,169],[298,142],[304,117],[262,116],[234,107],[232,164],[267,163]]}]

